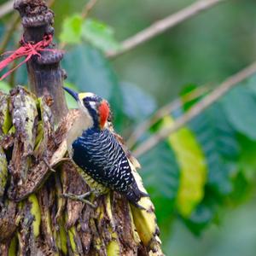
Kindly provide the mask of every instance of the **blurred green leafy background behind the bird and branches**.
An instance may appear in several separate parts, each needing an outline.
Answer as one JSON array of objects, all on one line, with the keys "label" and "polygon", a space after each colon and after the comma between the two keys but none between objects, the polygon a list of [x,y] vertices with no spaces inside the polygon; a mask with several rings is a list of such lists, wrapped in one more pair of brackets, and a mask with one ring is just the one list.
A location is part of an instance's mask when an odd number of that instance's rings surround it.
[{"label": "blurred green leafy background behind the bird and branches", "polygon": [[[184,101],[184,96],[199,87],[195,84],[218,84],[256,59],[253,0],[227,1],[113,61],[105,57],[106,51],[119,49],[121,39],[192,2],[99,1],[85,20],[80,15],[87,3],[84,0],[55,1],[53,6],[56,40],[66,44],[62,61],[68,75],[66,85],[107,98],[115,128],[125,138],[166,102],[173,98],[181,102],[169,116],[150,127],[137,144],[201,100],[198,96]],[[0,23],[1,38],[8,20],[6,17]],[[19,37],[15,32],[14,38]],[[16,47],[14,38],[9,49]],[[25,67],[16,73],[15,84],[26,84]],[[209,84],[207,87],[212,89]],[[3,90],[8,86],[0,84]],[[68,96],[67,102],[75,108]],[[227,248],[239,236],[229,235],[227,226],[223,233],[217,232],[211,224],[221,225],[233,207],[243,209],[255,192],[255,110],[253,76],[140,157],[140,174],[154,201],[166,255],[254,255],[253,250],[247,254],[239,250],[239,254],[236,247]],[[248,211],[255,212],[255,207],[247,205]],[[235,221],[240,219],[247,226],[241,216],[235,216]],[[249,219],[253,221],[251,215]],[[230,220],[227,224],[233,225]],[[230,232],[239,232],[240,228],[234,224]],[[201,236],[202,243],[188,230]],[[255,230],[251,233],[256,237]],[[216,239],[219,247],[208,249],[211,239]],[[201,247],[183,248],[195,246]]]}]

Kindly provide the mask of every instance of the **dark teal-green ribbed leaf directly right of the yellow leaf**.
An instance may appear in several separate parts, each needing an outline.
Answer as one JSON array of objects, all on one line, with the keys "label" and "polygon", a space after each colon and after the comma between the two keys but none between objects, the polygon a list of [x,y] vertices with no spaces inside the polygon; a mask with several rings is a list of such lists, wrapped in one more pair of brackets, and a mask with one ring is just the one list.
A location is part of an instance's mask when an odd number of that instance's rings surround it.
[{"label": "dark teal-green ribbed leaf directly right of the yellow leaf", "polygon": [[189,128],[195,133],[207,160],[207,183],[218,194],[228,195],[232,190],[231,171],[240,148],[223,108],[214,104],[189,122]]}]

